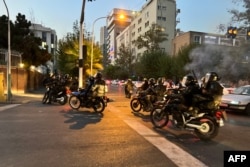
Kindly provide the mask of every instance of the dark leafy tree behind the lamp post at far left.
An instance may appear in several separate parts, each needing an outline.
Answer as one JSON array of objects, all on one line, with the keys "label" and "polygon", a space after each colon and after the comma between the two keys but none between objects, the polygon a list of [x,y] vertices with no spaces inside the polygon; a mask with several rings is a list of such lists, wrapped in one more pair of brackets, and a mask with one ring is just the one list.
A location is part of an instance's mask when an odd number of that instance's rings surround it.
[{"label": "dark leafy tree behind the lamp post at far left", "polygon": [[[6,16],[0,17],[0,47],[2,48],[8,47],[7,22]],[[41,39],[30,32],[30,25],[31,22],[20,13],[16,16],[15,24],[11,23],[11,49],[22,53],[22,61],[26,68],[31,65],[44,65],[52,57],[47,50],[40,48]]]}]

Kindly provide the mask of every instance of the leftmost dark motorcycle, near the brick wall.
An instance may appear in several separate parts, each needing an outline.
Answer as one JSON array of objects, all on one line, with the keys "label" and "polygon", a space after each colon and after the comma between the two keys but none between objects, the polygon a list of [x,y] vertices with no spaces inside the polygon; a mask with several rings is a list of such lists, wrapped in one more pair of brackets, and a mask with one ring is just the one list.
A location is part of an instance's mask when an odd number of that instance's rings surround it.
[{"label": "leftmost dark motorcycle, near the brick wall", "polygon": [[64,85],[47,84],[46,88],[47,90],[42,99],[43,104],[45,104],[49,98],[51,98],[51,102],[58,102],[61,105],[65,105],[67,103],[69,90]]}]

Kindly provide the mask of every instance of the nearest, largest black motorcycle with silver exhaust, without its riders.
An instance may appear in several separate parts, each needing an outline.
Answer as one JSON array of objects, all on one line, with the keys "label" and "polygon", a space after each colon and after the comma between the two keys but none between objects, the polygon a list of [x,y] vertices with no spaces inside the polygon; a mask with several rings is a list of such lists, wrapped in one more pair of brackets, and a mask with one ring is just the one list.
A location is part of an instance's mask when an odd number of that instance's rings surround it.
[{"label": "nearest, largest black motorcycle with silver exhaust, without its riders", "polygon": [[171,121],[172,125],[179,129],[193,130],[201,140],[210,140],[218,135],[219,127],[224,126],[227,120],[226,112],[219,108],[210,108],[211,100],[202,99],[195,105],[197,114],[189,111],[180,111],[180,99],[176,96],[165,95],[164,101],[157,102],[150,113],[150,119],[154,127],[163,128]]}]

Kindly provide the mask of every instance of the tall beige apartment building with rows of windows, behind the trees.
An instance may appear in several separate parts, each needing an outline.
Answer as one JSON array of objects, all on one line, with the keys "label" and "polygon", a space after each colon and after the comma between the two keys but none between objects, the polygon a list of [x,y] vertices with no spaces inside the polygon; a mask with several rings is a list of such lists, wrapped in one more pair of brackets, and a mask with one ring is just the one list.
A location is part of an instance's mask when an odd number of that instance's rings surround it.
[{"label": "tall beige apartment building with rows of windows, behind the trees", "polygon": [[168,35],[168,40],[160,44],[162,51],[171,53],[172,40],[176,32],[176,16],[179,10],[176,10],[175,0],[150,0],[147,1],[142,9],[133,12],[131,23],[120,32],[116,37],[116,49],[122,44],[132,50],[133,56],[139,60],[140,56],[146,51],[145,48],[135,46],[135,41],[140,35],[144,35],[152,24],[157,24],[162,31]]}]

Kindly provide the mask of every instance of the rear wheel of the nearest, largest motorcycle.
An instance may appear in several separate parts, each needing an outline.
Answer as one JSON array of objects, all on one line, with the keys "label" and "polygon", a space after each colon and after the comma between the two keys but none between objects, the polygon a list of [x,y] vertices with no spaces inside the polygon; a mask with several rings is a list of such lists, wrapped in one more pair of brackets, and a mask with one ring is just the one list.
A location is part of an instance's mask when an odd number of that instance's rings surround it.
[{"label": "rear wheel of the nearest, largest motorcycle", "polygon": [[216,123],[216,120],[210,116],[204,116],[199,118],[200,129],[195,129],[195,134],[201,140],[211,140],[216,137],[219,133],[219,126]]}]

